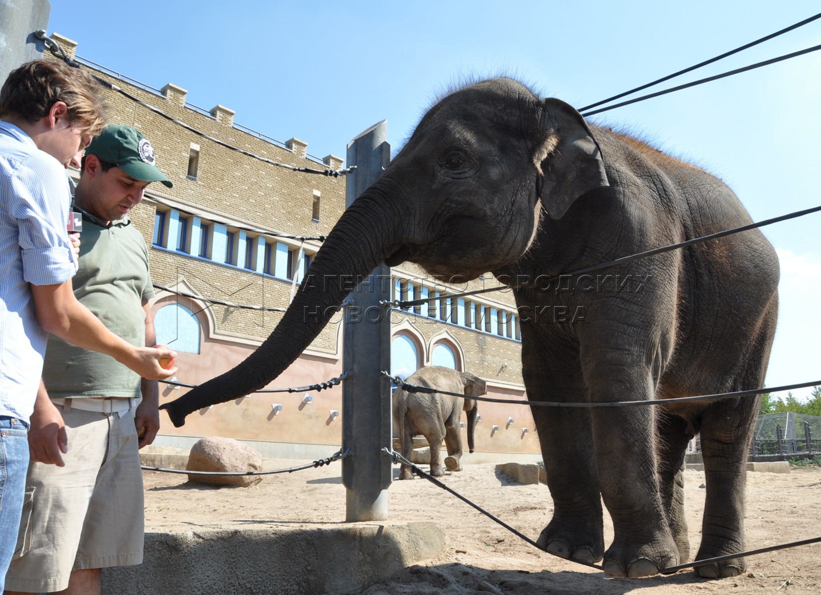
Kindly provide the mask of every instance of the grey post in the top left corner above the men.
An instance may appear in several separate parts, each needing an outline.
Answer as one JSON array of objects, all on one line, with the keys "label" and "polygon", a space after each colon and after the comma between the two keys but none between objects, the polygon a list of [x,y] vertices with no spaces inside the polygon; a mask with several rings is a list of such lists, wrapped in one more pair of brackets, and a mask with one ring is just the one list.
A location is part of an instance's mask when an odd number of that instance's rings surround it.
[{"label": "grey post in the top left corner above the men", "polygon": [[48,29],[48,0],[0,0],[0,85],[23,62],[43,57],[44,44],[34,31]]}]

